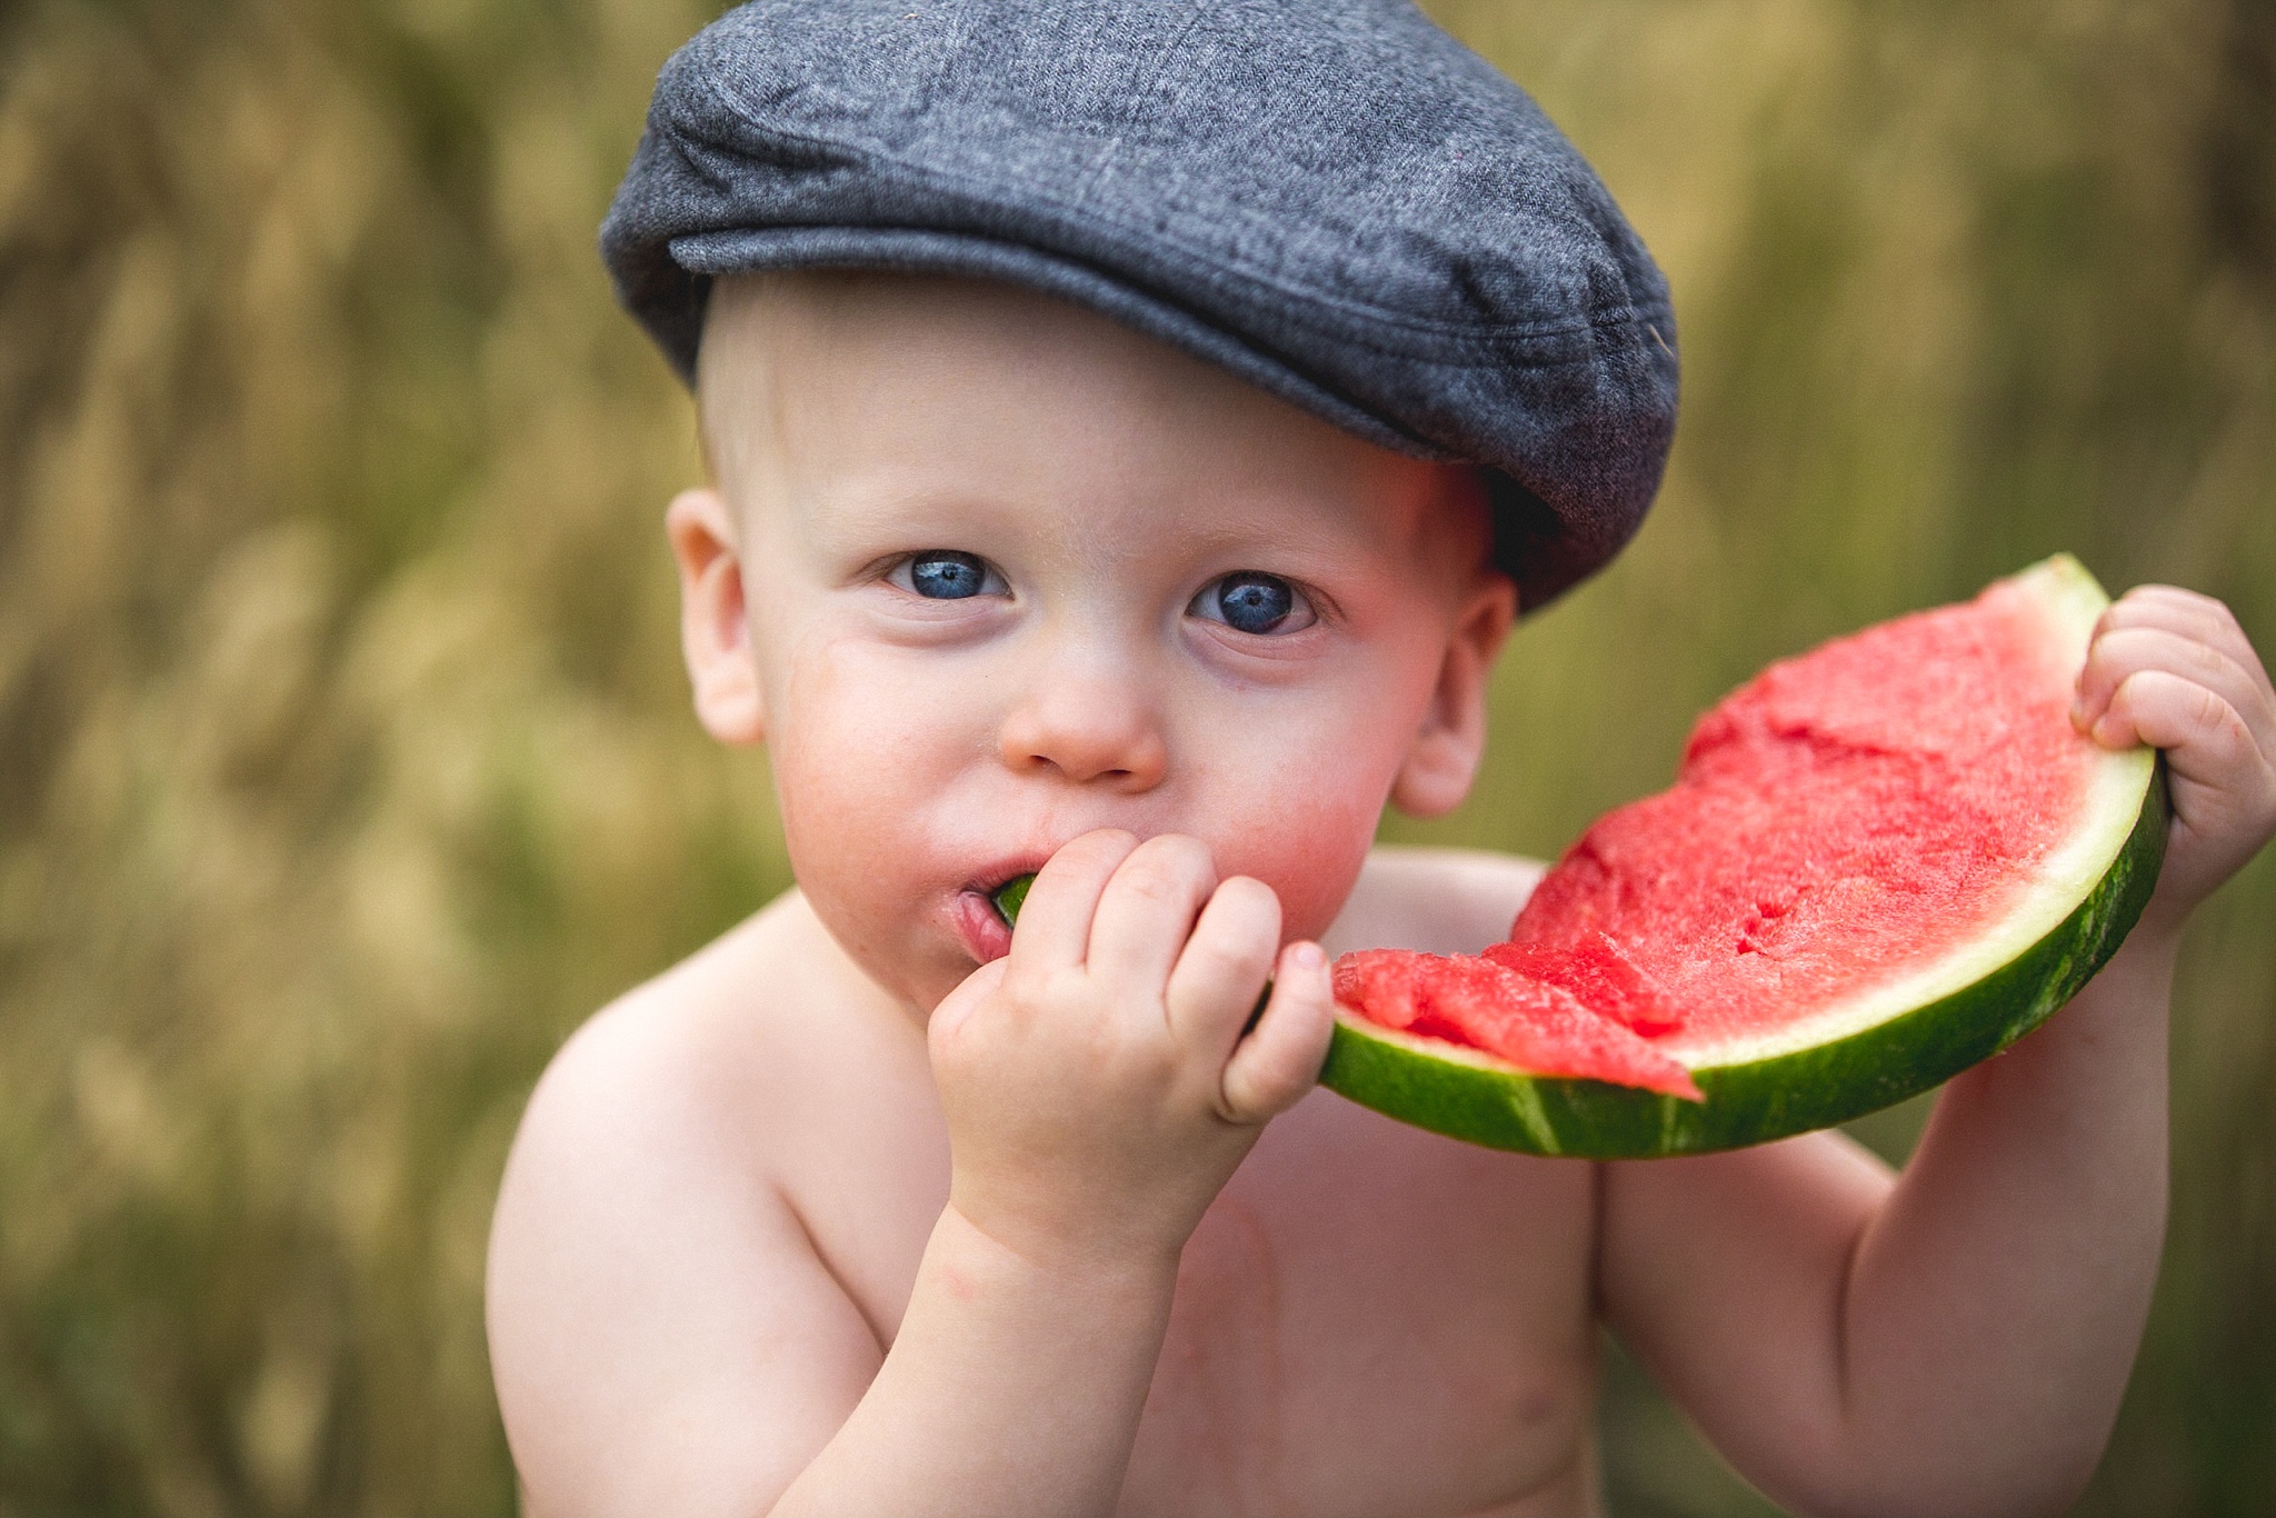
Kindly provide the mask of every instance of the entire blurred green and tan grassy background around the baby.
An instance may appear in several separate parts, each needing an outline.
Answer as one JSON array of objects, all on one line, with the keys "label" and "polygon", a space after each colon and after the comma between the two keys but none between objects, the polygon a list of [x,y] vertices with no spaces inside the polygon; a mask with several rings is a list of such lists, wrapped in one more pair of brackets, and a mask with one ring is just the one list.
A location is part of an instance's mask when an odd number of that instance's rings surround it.
[{"label": "entire blurred green and tan grassy background around the baby", "polygon": [[[2276,649],[2276,5],[1432,9],[1598,162],[1687,380],[1477,799],[1393,835],[1555,853],[1764,660],[2053,548]],[[592,253],[708,16],[0,7],[0,1516],[512,1509],[521,1102],[787,881],[762,758],[685,710],[690,407]],[[2192,929],[2085,1513],[2276,1491],[2271,1024],[2265,856]],[[1621,1361],[1605,1443],[1618,1513],[1771,1511]]]}]

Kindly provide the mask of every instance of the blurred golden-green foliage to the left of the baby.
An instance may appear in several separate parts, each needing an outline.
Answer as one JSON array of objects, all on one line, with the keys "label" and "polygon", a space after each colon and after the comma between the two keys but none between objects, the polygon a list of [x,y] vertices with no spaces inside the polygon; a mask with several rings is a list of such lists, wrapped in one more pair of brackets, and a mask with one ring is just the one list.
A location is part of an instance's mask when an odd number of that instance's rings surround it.
[{"label": "blurred golden-green foliage to the left of the baby", "polygon": [[0,82],[0,1509],[512,1507],[530,1081],[785,881],[685,717],[619,5],[39,5]]}]

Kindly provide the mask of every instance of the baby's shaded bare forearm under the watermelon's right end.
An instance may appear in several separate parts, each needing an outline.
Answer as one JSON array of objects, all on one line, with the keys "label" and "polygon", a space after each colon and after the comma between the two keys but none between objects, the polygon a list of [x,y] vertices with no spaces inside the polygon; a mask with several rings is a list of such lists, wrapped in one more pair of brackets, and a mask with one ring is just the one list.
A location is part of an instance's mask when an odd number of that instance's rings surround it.
[{"label": "baby's shaded bare forearm under the watermelon's right end", "polygon": [[2171,933],[2137,933],[1937,1102],[1841,1295],[1850,1468],[2026,1511],[2092,1472],[2164,1234],[2171,970]]}]

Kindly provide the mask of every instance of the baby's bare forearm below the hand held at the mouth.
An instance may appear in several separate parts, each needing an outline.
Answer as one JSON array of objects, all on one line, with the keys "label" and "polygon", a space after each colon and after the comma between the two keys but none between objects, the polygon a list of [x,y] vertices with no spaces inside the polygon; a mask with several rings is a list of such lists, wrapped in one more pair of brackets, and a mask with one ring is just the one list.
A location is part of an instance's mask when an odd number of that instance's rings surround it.
[{"label": "baby's bare forearm below the hand held at the mouth", "polygon": [[1111,1511],[1174,1286],[1174,1254],[1038,1263],[949,1206],[892,1352],[776,1518]]}]

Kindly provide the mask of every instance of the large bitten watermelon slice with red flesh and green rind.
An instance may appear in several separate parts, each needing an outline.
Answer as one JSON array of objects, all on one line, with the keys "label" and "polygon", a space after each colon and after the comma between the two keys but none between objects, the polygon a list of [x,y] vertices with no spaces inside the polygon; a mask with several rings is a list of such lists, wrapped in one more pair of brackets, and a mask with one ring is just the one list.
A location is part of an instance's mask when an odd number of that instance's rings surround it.
[{"label": "large bitten watermelon slice with red flesh and green rind", "polygon": [[2110,958],[2158,756],[2071,728],[2108,605],[2071,558],[1771,665],[1600,817],[1484,958],[1336,963],[1320,1083],[1502,1149],[1727,1149],[1998,1054]]}]

